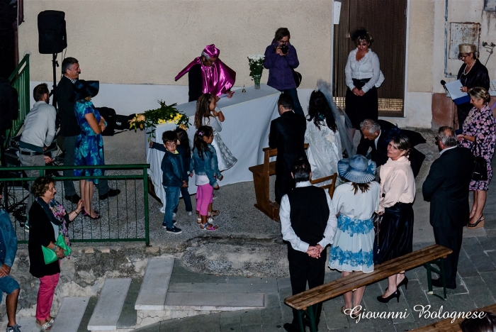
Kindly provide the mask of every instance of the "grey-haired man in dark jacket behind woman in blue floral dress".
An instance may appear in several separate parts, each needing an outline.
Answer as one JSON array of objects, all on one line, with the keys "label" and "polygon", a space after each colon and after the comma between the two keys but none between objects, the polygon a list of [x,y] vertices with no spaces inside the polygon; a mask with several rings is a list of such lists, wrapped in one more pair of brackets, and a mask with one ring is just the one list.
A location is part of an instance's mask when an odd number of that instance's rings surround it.
[{"label": "grey-haired man in dark jacket behind woman in blue floral dress", "polygon": [[[74,57],[66,57],[62,61],[62,78],[60,79],[57,89],[55,89],[55,100],[57,101],[58,112],[60,116],[60,135],[64,137],[64,166],[74,165],[74,150],[76,149],[77,136],[81,132],[77,123],[76,114],[74,113],[74,101],[71,100],[74,92],[74,83],[79,79],[81,68],[79,62]],[[99,126],[104,126],[105,119],[102,117]],[[103,130],[103,129],[102,129]],[[64,170],[64,177],[73,177],[74,170]],[[116,196],[120,190],[110,189],[106,179],[99,179],[98,195],[100,199]],[[79,199],[74,188],[72,180],[64,181],[65,199],[77,204]]]}]

